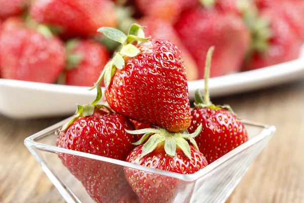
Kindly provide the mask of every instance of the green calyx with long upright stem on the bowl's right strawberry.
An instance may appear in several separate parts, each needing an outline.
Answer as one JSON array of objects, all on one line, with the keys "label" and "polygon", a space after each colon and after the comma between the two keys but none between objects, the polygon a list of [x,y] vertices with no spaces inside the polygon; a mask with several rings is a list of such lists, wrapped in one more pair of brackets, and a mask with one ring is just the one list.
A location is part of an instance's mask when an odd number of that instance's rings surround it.
[{"label": "green calyx with long upright stem on the bowl's right strawberry", "polygon": [[235,114],[229,105],[216,106],[216,105],[212,104],[212,102],[210,100],[208,80],[210,78],[210,68],[211,68],[211,59],[212,59],[213,51],[214,51],[214,46],[209,48],[209,50],[207,52],[207,56],[206,56],[205,75],[204,75],[204,82],[205,82],[204,99],[201,95],[200,90],[197,89],[195,91],[194,106],[197,108],[210,108],[210,109],[214,109],[214,110],[225,109],[225,110]]}]

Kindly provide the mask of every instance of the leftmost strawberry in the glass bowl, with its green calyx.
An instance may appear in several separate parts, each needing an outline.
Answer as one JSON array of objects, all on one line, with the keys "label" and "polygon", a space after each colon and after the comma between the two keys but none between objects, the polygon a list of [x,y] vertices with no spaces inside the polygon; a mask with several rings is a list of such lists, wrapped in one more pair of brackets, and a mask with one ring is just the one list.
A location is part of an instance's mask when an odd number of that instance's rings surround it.
[{"label": "leftmost strawberry in the glass bowl, with its green calyx", "polygon": [[[101,97],[101,88],[91,105],[78,106],[75,116],[62,127],[57,146],[94,155],[125,160],[133,149],[133,124],[119,114],[100,110],[96,105]],[[96,161],[69,154],[59,154],[67,169],[82,182],[96,202],[124,202],[132,190],[125,180],[123,168],[109,162]]]}]

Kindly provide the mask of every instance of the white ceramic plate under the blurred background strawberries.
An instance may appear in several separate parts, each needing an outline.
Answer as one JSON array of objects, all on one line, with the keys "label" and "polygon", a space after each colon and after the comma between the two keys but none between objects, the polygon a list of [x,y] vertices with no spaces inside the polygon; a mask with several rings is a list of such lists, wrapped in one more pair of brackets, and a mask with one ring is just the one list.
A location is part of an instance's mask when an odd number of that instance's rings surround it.
[{"label": "white ceramic plate under the blurred background strawberries", "polygon": [[[211,78],[211,96],[250,91],[304,77],[304,57],[254,71]],[[194,97],[204,80],[188,82],[189,96]],[[74,113],[75,104],[88,104],[95,91],[87,87],[34,83],[0,79],[0,114],[11,118],[65,116]]]}]

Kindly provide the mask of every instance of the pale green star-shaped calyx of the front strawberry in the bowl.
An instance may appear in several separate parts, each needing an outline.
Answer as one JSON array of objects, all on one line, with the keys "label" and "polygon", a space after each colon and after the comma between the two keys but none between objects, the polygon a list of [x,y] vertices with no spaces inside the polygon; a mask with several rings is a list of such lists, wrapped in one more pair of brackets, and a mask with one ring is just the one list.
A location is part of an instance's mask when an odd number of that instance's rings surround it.
[{"label": "pale green star-shaped calyx of the front strawberry in the bowl", "polygon": [[202,130],[202,124],[198,126],[195,132],[188,134],[188,133],[174,133],[169,132],[162,128],[145,128],[140,130],[126,130],[130,134],[143,134],[141,139],[133,145],[140,145],[144,143],[144,141],[151,136],[148,141],[143,145],[141,157],[153,152],[159,144],[163,144],[165,148],[165,152],[171,156],[175,156],[176,148],[179,147],[183,153],[191,159],[191,151],[189,142],[193,144],[193,146],[198,149],[198,145],[194,140],[195,137]]}]

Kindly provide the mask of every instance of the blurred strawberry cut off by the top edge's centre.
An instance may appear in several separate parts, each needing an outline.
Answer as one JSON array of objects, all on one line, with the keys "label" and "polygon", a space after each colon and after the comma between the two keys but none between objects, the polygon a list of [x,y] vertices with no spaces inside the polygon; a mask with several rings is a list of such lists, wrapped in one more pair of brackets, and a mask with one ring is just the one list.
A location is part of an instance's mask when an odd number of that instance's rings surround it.
[{"label": "blurred strawberry cut off by the top edge's centre", "polygon": [[173,24],[182,11],[183,0],[135,0],[135,4],[145,16]]}]

